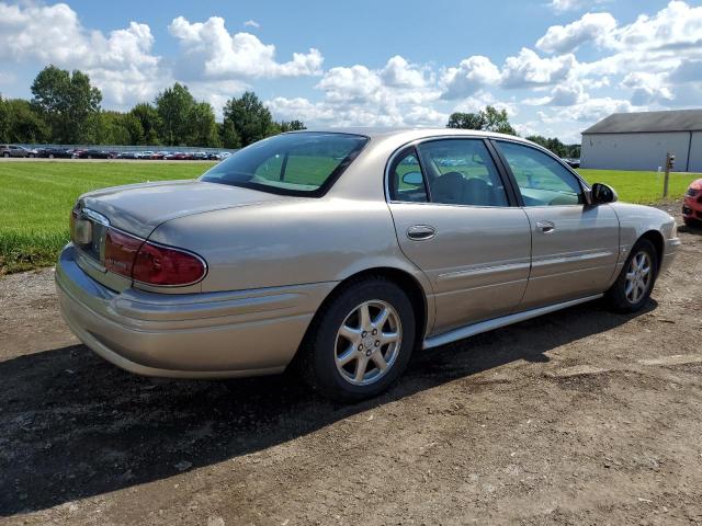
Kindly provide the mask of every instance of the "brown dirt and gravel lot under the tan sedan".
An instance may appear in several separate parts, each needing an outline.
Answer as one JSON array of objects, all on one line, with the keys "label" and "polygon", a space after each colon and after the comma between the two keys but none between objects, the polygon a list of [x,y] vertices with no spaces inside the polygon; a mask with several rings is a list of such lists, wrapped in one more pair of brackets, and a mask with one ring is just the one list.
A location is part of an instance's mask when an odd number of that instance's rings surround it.
[{"label": "brown dirt and gravel lot under the tan sedan", "polygon": [[[677,207],[676,207],[677,209]],[[2,524],[702,524],[702,236],[649,308],[417,356],[340,407],[294,378],[154,384],[0,281]]]}]

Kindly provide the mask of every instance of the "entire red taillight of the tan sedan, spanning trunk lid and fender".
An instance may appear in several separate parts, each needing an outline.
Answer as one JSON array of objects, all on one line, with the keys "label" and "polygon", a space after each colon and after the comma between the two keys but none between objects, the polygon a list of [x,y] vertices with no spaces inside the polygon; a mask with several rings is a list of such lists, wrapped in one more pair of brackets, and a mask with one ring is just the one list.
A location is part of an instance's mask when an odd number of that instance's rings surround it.
[{"label": "entire red taillight of the tan sedan, spanning trunk lid and fender", "polygon": [[137,282],[149,285],[188,285],[205,275],[205,263],[194,254],[149,243],[141,238],[107,230],[104,265]]}]

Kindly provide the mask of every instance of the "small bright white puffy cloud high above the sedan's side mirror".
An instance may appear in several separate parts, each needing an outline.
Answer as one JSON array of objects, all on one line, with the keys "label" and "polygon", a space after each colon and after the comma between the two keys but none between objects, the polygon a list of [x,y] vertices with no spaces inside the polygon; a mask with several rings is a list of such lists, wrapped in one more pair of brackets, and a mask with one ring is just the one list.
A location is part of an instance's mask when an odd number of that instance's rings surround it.
[{"label": "small bright white puffy cloud high above the sedan's side mirror", "polygon": [[574,52],[587,42],[607,45],[612,38],[616,20],[610,13],[586,13],[567,25],[552,25],[536,41],[536,47],[546,53]]}]

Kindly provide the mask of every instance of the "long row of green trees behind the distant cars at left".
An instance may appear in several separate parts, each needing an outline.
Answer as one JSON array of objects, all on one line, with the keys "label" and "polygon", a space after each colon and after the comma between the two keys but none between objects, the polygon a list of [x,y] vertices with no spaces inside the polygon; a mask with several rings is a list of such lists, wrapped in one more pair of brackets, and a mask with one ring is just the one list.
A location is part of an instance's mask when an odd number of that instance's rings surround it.
[{"label": "long row of green trees behind the distant cars at left", "polygon": [[32,83],[32,100],[0,95],[0,142],[152,145],[241,148],[271,135],[305,129],[301,121],[275,122],[253,92],[229,99],[224,119],[176,82],[152,102],[128,112],[101,107],[88,75],[47,66]]}]

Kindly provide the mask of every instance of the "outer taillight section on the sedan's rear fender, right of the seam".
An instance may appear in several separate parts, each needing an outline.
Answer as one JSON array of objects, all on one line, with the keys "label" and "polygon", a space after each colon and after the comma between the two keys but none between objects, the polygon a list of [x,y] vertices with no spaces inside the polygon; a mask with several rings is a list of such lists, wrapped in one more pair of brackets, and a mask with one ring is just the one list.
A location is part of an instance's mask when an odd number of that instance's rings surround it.
[{"label": "outer taillight section on the sedan's rear fender, right of the seam", "polygon": [[150,285],[188,285],[205,275],[204,262],[182,250],[145,242],[134,262],[133,277]]}]

